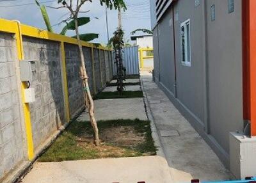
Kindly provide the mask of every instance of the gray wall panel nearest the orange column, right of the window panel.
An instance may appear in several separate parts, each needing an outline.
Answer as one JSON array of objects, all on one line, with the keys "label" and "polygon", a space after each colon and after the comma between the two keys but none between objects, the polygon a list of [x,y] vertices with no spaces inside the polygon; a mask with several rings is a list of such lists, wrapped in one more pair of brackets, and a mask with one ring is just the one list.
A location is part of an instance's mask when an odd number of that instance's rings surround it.
[{"label": "gray wall panel nearest the orange column, right of the window panel", "polygon": [[216,20],[207,16],[209,129],[228,152],[228,132],[243,131],[241,1],[235,0],[230,14],[227,1],[207,0],[207,12],[212,4]]}]

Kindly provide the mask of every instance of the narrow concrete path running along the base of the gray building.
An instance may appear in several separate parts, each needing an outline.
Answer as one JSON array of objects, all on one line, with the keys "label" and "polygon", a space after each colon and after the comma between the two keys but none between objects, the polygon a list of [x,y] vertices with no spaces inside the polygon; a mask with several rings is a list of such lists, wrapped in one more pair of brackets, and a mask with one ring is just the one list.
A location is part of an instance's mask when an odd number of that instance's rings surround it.
[{"label": "narrow concrete path running along the base of the gray building", "polygon": [[141,73],[141,81],[174,182],[230,179],[229,171],[204,139],[152,82],[152,75]]}]

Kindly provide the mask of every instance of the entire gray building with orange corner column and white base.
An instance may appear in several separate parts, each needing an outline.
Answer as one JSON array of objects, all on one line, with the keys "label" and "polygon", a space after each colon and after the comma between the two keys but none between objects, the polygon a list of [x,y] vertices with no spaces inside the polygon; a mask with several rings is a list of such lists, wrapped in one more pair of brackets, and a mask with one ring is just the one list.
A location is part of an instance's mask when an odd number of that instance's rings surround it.
[{"label": "entire gray building with orange corner column and white base", "polygon": [[256,1],[150,0],[150,9],[154,80],[237,178],[255,176]]}]

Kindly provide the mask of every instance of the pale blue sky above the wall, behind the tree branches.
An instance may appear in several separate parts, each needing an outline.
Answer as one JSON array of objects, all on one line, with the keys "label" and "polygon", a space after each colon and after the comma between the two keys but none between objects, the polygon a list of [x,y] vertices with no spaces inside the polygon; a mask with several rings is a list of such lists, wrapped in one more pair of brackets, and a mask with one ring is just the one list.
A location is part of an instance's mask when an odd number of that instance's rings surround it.
[{"label": "pale blue sky above the wall, behind the tree branches", "polygon": [[[46,2],[47,3],[42,3]],[[51,2],[49,2],[51,1]],[[58,0],[40,0],[42,4],[47,6],[58,7]],[[127,10],[122,12],[122,27],[125,31],[125,40],[131,37],[131,31],[138,28],[150,29],[150,0],[125,0],[127,4]],[[81,11],[90,11],[88,13],[80,13],[80,17],[90,17],[91,21],[79,28],[80,33],[99,33],[99,38],[93,40],[93,42],[99,42],[106,44],[108,42],[107,29],[106,29],[106,9],[105,6],[100,6],[99,0],[92,0],[86,2],[83,5]],[[31,5],[23,5],[29,4]],[[0,0],[0,18],[8,20],[19,20],[22,24],[34,26],[40,29],[46,29],[44,19],[40,9],[34,0]],[[22,5],[22,6],[20,6]],[[8,6],[8,7],[6,7]],[[59,9],[55,10],[47,8],[51,25],[53,26],[55,33],[60,33],[61,29],[65,26],[65,23],[56,25],[61,20],[67,19],[68,10]],[[95,18],[97,17],[97,19]],[[118,26],[117,11],[108,10],[108,23],[109,23],[109,36],[113,36],[113,32]],[[138,33],[141,35],[142,33]],[[75,35],[74,31],[68,31],[67,35]]]}]

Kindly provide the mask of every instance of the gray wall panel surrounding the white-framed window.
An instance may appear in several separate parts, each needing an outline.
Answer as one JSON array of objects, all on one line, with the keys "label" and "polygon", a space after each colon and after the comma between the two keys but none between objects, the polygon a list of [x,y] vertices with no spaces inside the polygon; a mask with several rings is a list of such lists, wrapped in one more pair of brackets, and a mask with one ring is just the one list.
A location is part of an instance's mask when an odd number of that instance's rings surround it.
[{"label": "gray wall panel surrounding the white-framed window", "polygon": [[[195,1],[180,0],[174,6],[179,20],[175,21],[177,65],[177,97],[200,121],[204,120],[204,64],[202,58],[202,6]],[[180,24],[190,19],[191,67],[181,63]]]}]

